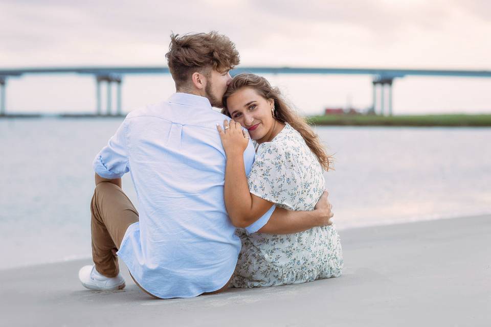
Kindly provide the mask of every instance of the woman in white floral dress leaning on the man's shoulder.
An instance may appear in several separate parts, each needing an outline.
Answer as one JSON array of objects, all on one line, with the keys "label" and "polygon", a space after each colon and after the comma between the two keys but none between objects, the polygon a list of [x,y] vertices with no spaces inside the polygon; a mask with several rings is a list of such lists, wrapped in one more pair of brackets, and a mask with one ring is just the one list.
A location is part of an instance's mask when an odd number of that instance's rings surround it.
[{"label": "woman in white floral dress leaning on the man's shoulder", "polygon": [[[232,221],[254,222],[273,204],[294,211],[313,210],[324,191],[323,171],[331,158],[319,137],[266,79],[237,75],[224,95],[224,113],[233,121],[217,126],[227,155],[225,203]],[[249,130],[256,160],[245,176],[243,151]],[[272,235],[260,229],[242,240],[234,287],[277,286],[336,277],[343,267],[334,225]]]}]

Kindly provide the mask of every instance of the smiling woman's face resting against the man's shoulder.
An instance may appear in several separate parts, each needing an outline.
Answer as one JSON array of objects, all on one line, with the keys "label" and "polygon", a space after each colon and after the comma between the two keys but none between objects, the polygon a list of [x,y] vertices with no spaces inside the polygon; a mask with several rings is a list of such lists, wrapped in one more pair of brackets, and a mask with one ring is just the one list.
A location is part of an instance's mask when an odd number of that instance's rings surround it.
[{"label": "smiling woman's face resting against the man's shoulder", "polygon": [[240,88],[227,99],[232,119],[247,128],[251,138],[258,143],[264,142],[273,131],[273,105],[273,99],[264,99],[251,87]]}]

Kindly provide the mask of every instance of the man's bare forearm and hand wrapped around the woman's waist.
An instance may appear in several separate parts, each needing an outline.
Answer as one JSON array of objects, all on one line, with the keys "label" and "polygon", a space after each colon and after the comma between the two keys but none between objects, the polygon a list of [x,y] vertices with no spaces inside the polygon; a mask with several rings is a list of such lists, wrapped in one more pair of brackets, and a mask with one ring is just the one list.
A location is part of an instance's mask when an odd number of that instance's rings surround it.
[{"label": "man's bare forearm and hand wrapped around the woman's waist", "polygon": [[329,193],[324,192],[313,211],[290,211],[276,208],[270,220],[258,231],[266,234],[291,234],[317,226],[328,226],[334,216],[332,205],[327,200]]}]

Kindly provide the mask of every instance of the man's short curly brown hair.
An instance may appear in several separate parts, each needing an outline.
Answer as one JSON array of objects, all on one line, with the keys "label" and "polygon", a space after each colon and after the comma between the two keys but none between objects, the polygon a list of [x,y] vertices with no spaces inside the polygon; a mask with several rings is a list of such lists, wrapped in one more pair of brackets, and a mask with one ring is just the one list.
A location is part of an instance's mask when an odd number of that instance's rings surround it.
[{"label": "man's short curly brown hair", "polygon": [[176,88],[189,84],[193,73],[215,69],[228,72],[239,64],[235,44],[215,31],[197,34],[171,34],[169,52],[165,55]]}]

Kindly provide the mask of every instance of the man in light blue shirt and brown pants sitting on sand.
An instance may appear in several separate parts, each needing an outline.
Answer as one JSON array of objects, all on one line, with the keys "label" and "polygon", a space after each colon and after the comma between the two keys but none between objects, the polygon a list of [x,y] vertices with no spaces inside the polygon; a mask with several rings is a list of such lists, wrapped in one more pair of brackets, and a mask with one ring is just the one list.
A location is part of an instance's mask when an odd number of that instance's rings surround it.
[{"label": "man in light blue shirt and brown pants sitting on sand", "polygon": [[[124,288],[116,251],[137,285],[159,298],[219,292],[234,272],[241,243],[225,209],[226,157],[216,131],[226,116],[212,106],[221,107],[239,55],[226,36],[211,32],[171,35],[166,57],[176,93],[129,113],[94,160],[95,265],[79,272],[86,288]],[[250,144],[247,172],[254,154]],[[140,213],[121,189],[127,172]],[[327,195],[313,212],[273,206],[262,214],[249,232],[294,232],[332,217]]]}]

